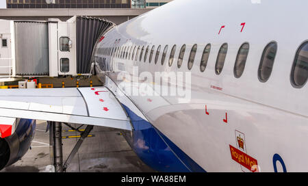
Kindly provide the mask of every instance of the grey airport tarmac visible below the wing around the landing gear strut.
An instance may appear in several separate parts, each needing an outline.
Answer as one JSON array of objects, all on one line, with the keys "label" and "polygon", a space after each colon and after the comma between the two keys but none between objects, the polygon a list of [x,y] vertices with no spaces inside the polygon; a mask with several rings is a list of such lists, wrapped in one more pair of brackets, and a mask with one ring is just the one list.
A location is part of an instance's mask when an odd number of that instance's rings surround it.
[{"label": "grey airport tarmac visible below the wing around the landing gear strut", "polygon": [[[76,127],[75,124],[72,124]],[[37,121],[31,150],[25,156],[0,172],[50,172],[49,132],[46,121]],[[85,129],[86,126],[81,127]],[[79,138],[76,131],[62,124],[63,161]],[[66,172],[155,172],[144,164],[116,129],[94,127],[79,148]]]}]

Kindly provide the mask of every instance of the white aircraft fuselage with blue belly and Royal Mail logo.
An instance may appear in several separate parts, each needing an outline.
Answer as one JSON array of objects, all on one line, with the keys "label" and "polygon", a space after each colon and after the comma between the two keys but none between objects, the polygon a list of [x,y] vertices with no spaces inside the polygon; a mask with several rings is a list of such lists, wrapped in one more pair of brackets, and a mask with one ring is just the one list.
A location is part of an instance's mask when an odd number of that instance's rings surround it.
[{"label": "white aircraft fuselage with blue belly and Royal Mail logo", "polygon": [[[294,57],[307,41],[307,6],[308,1],[175,0],[107,31],[97,42],[95,70],[105,86],[116,87],[140,109],[136,113],[123,103],[138,118],[125,136],[141,159],[167,172],[307,171],[308,85],[292,83]],[[244,70],[235,77],[245,43]],[[271,43],[277,50],[264,81],[260,62]],[[227,52],[217,68],[223,44]],[[166,72],[162,82],[155,81],[155,72]],[[183,87],[184,94],[146,93],[159,83]]]}]

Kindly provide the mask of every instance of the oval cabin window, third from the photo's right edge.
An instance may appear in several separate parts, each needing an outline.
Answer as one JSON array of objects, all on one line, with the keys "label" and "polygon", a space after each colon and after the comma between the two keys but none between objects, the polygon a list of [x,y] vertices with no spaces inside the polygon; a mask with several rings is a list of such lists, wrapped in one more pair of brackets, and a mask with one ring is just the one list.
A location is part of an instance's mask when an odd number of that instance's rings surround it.
[{"label": "oval cabin window, third from the photo's right edge", "polygon": [[242,44],[242,46],[238,50],[238,56],[236,57],[234,70],[233,70],[234,76],[236,78],[240,78],[244,72],[246,59],[248,56],[248,51],[249,51],[248,42],[245,42],[244,44]]}]

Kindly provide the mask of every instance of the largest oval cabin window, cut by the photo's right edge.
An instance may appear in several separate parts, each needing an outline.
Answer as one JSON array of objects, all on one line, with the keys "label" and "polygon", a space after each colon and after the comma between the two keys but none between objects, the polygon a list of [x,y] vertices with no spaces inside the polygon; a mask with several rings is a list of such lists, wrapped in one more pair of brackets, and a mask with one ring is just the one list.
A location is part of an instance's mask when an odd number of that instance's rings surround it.
[{"label": "largest oval cabin window, cut by the photo's right edge", "polygon": [[292,67],[291,80],[296,88],[302,88],[308,79],[308,42],[300,45]]}]

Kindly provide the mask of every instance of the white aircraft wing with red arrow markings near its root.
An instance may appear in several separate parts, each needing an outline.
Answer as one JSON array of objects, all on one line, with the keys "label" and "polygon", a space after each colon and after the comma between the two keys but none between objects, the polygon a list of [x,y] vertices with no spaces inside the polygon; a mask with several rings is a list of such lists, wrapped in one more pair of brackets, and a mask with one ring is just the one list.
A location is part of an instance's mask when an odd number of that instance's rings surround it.
[{"label": "white aircraft wing with red arrow markings near its root", "polygon": [[131,131],[125,109],[105,87],[0,90],[0,124],[6,124],[8,120],[14,124],[14,118]]}]

